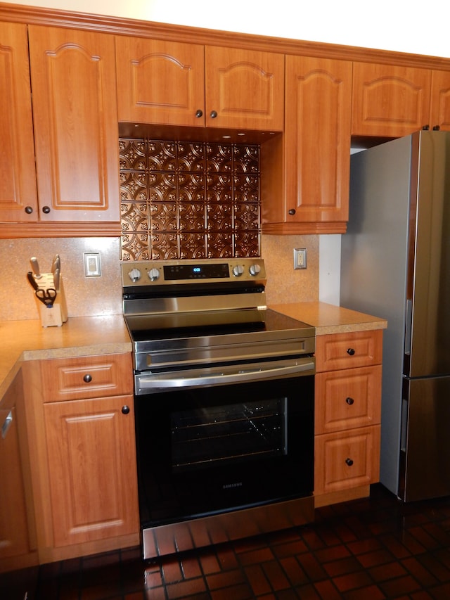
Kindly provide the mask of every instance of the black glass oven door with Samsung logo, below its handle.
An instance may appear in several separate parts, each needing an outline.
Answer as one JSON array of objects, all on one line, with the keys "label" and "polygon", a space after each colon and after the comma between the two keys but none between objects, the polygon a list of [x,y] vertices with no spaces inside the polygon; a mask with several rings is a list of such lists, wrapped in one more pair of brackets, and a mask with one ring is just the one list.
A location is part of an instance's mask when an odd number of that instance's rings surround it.
[{"label": "black glass oven door with Samsung logo, below its handle", "polygon": [[314,371],[136,395],[135,406],[143,528],[311,496]]}]

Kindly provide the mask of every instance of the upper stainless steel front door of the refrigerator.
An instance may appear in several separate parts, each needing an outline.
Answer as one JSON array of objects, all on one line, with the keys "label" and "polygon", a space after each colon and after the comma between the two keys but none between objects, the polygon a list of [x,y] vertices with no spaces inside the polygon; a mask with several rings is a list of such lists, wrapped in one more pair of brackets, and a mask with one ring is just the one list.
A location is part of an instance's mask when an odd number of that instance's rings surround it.
[{"label": "upper stainless steel front door of the refrigerator", "polygon": [[406,347],[404,374],[449,375],[450,133],[414,134],[412,151],[407,292],[411,332],[406,331],[411,345]]}]

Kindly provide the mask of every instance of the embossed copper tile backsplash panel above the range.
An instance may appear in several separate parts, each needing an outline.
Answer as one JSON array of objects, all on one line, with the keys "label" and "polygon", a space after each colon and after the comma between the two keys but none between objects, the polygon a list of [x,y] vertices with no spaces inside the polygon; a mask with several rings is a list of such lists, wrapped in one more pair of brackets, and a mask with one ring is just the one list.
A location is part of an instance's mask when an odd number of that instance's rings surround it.
[{"label": "embossed copper tile backsplash panel above the range", "polygon": [[120,139],[122,260],[259,256],[259,146]]}]

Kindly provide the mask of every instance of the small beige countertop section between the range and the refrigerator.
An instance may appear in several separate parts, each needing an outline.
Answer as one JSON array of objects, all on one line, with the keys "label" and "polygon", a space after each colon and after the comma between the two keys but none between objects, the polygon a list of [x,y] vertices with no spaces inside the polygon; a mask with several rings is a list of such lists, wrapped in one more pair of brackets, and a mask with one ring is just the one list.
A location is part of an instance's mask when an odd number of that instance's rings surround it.
[{"label": "small beige countertop section between the range and the refrigerator", "polygon": [[385,319],[326,302],[292,302],[270,305],[269,308],[314,326],[317,336],[323,336],[326,333],[349,333],[387,327]]}]

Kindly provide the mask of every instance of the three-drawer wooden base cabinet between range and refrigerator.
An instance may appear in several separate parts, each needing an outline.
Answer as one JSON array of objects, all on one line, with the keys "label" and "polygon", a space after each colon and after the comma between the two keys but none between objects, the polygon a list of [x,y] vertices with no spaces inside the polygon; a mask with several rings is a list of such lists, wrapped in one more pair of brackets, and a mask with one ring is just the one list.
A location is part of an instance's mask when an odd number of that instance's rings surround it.
[{"label": "three-drawer wooden base cabinet between range and refrigerator", "polygon": [[383,331],[318,336],[315,506],[367,496],[380,477]]}]

